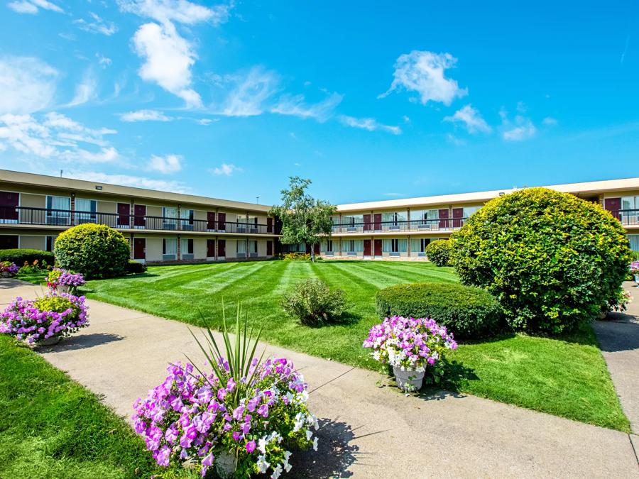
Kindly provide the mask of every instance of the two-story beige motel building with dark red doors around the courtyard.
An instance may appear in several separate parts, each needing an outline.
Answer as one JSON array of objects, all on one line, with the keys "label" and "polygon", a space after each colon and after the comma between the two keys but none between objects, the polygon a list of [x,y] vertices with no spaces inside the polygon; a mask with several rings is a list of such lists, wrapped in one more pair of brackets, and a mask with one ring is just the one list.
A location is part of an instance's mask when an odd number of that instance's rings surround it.
[{"label": "two-story beige motel building with dark red doors around the courtyard", "polygon": [[[639,251],[639,178],[549,188],[602,205]],[[450,233],[488,200],[513,189],[340,204],[333,232],[316,248],[324,258],[425,260],[430,241]],[[58,234],[82,223],[107,224],[146,263],[271,258],[280,250],[271,207],[191,194],[0,170],[0,249],[53,250]]]}]

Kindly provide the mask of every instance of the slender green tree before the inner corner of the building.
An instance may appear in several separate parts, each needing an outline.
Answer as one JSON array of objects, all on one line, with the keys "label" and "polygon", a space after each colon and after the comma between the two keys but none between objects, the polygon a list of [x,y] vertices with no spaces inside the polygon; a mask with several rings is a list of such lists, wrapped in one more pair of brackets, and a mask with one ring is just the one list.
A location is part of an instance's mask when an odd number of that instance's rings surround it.
[{"label": "slender green tree before the inner corner of the building", "polygon": [[306,189],[311,180],[298,176],[289,177],[288,189],[283,189],[282,204],[271,209],[271,215],[282,221],[280,241],[284,244],[306,243],[310,246],[311,259],[315,261],[315,245],[330,236],[331,216],[337,207],[321,199],[315,199]]}]

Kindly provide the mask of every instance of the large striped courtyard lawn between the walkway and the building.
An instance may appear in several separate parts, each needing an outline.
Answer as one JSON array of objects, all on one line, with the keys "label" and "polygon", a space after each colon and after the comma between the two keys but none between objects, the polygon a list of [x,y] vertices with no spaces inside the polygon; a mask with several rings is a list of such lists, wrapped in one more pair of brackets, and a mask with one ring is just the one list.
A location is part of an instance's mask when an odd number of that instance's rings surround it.
[{"label": "large striped courtyard lawn between the walkway and the building", "polygon": [[[281,299],[296,282],[317,277],[342,288],[350,305],[342,324],[311,328],[283,312]],[[361,347],[379,320],[375,292],[405,282],[457,282],[452,268],[432,263],[258,261],[148,268],[141,275],[96,280],[87,297],[203,325],[222,326],[222,300],[234,318],[236,302],[263,326],[263,340],[361,368],[378,369]],[[562,338],[506,334],[462,344],[449,353],[447,388],[629,431],[606,363],[590,327]]]}]

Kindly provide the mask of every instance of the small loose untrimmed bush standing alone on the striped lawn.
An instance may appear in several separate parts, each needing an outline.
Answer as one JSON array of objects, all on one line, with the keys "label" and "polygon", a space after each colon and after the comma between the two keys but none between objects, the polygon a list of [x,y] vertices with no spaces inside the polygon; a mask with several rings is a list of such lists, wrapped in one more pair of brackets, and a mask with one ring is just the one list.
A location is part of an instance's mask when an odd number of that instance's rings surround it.
[{"label": "small loose untrimmed bush standing alone on the striped lawn", "polygon": [[325,282],[309,279],[295,285],[295,290],[284,297],[282,307],[302,324],[318,326],[339,319],[346,309],[346,299],[344,291],[331,290]]}]

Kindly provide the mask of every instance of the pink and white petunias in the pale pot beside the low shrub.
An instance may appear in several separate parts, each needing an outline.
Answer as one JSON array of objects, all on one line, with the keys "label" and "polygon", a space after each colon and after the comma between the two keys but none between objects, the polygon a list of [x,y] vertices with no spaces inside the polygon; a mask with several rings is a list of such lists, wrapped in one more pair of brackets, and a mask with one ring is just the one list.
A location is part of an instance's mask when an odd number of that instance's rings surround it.
[{"label": "pink and white petunias in the pale pot beside the low shrub", "polygon": [[383,364],[416,371],[432,366],[441,373],[439,359],[445,350],[457,349],[457,343],[435,319],[393,316],[368,331],[364,348],[373,348],[373,358]]}]

